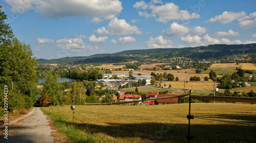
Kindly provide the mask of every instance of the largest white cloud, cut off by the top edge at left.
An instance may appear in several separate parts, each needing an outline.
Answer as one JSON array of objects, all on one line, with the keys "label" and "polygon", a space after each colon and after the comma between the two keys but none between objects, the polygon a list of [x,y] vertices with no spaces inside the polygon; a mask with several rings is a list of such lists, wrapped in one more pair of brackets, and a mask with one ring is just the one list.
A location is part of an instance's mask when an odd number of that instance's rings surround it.
[{"label": "largest white cloud, cut off by the top edge at left", "polygon": [[12,7],[12,11],[23,8],[23,11],[30,9],[40,13],[41,16],[73,17],[86,16],[93,17],[93,22],[100,22],[114,18],[122,11],[122,3],[118,0],[6,0]]}]

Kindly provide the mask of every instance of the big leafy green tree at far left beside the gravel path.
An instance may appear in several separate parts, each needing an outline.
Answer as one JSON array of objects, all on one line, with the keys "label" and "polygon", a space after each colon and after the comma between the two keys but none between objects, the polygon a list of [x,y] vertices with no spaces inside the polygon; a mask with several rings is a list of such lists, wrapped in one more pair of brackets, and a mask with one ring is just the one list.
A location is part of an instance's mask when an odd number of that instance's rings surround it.
[{"label": "big leafy green tree at far left beside the gravel path", "polygon": [[[4,24],[3,20],[0,19],[1,26]],[[0,28],[0,88],[8,85],[8,109],[30,108],[39,94],[35,86],[38,79],[35,65],[38,62],[32,58],[30,45],[18,41],[17,38],[9,39],[5,32],[2,33],[5,29]]]}]

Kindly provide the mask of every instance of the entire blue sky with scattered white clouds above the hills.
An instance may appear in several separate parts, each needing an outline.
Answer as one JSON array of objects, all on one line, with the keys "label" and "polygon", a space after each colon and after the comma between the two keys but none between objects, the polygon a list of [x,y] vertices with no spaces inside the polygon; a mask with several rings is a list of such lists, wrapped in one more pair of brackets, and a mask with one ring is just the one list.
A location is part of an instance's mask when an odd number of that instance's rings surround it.
[{"label": "entire blue sky with scattered white clouds above the hills", "polygon": [[256,1],[4,0],[37,59],[124,50],[256,43]]}]

